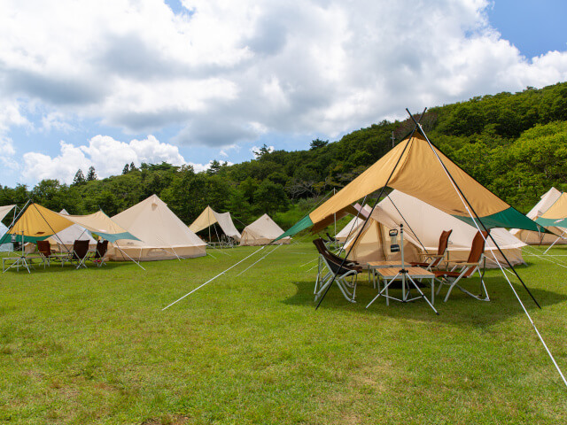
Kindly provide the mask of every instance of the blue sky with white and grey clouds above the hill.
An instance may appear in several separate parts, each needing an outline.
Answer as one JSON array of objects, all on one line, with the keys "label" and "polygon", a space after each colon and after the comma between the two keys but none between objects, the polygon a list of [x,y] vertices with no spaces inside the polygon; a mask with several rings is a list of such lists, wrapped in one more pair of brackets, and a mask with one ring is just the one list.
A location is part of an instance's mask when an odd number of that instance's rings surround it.
[{"label": "blue sky with white and grey clouds above the hill", "polygon": [[567,80],[560,1],[4,3],[8,186],[127,162],[201,170],[263,143],[338,140],[406,107]]}]

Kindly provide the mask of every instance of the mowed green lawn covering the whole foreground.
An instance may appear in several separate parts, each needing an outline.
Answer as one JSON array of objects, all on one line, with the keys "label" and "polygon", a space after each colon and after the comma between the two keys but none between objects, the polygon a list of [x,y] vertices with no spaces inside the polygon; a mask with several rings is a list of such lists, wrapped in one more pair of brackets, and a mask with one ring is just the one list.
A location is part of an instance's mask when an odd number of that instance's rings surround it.
[{"label": "mowed green lawn covering the whole foreground", "polygon": [[[492,301],[454,290],[386,306],[365,276],[315,311],[312,243],[215,258],[52,266],[0,277],[0,423],[400,424],[567,421],[567,388],[498,271]],[[540,248],[527,251],[540,252]],[[567,372],[564,266],[526,256],[514,285]],[[478,288],[478,279],[467,285]],[[444,293],[444,292],[443,292]]]}]

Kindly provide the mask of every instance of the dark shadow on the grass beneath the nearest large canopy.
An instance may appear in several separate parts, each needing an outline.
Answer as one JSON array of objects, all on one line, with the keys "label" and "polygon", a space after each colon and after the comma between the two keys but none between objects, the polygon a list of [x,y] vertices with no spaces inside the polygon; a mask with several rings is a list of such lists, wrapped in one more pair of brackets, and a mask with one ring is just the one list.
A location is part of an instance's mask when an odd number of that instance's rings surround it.
[{"label": "dark shadow on the grass beneath the nearest large canopy", "polygon": [[[313,295],[315,282],[303,280],[293,282],[293,284],[297,287],[297,292],[292,297],[283,300],[283,304],[303,305],[315,310],[316,304]],[[334,309],[358,312],[364,315],[383,315],[409,321],[449,321],[465,326],[478,325],[480,323],[492,324],[505,321],[509,317],[518,314],[524,314],[522,307],[518,304],[516,297],[509,288],[508,282],[504,278],[501,276],[485,277],[485,284],[491,298],[490,302],[470,298],[461,290],[454,288],[447,303],[444,303],[443,299],[447,294],[447,287],[443,288],[439,293],[439,297],[435,297],[435,308],[439,311],[439,316],[431,310],[423,299],[410,303],[399,303],[391,300],[388,306],[385,304],[385,298],[378,298],[368,309],[365,308],[372,298],[376,297],[377,290],[369,286],[369,282],[364,278],[359,282],[356,289],[356,303],[351,304],[346,301],[338,290],[337,285],[333,283],[333,287],[330,288],[320,308],[322,310]],[[521,284],[515,282],[512,282],[512,284],[528,311],[539,310]],[[479,280],[471,279],[470,282],[464,282],[462,286],[475,293],[479,288]],[[567,300],[567,295],[565,294],[538,288],[530,288],[530,290],[542,308],[563,303]],[[429,285],[424,286],[422,291],[425,296],[431,297],[431,287]],[[413,290],[413,293],[416,293],[416,290]],[[401,290],[392,290],[390,295],[400,298]]]}]

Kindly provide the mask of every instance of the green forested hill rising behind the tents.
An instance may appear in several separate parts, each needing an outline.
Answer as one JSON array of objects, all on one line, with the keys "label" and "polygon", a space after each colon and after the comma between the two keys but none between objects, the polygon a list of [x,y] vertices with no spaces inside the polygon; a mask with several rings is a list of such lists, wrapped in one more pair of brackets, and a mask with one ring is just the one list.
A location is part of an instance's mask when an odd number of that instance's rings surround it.
[{"label": "green forested hill rising behind the tents", "polygon": [[[516,94],[474,97],[431,108],[422,119],[433,143],[478,182],[522,212],[551,186],[567,189],[567,83]],[[314,199],[340,189],[400,142],[413,126],[382,121],[338,142],[315,140],[308,151],[262,148],[258,158],[195,173],[190,166],[125,166],[121,175],[97,180],[79,174],[71,185],[44,180],[0,189],[0,205],[35,202],[69,213],[102,208],[113,215],[156,193],[185,222],[206,205],[230,211],[237,226],[261,213],[283,227],[305,213]]]}]

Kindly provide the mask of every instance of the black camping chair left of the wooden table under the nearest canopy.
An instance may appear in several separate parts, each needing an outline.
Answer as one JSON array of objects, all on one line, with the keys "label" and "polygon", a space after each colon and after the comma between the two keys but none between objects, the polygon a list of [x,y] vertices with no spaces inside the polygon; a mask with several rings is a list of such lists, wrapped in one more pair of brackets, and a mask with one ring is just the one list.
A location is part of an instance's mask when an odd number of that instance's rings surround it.
[{"label": "black camping chair left of the wooden table under the nearest canopy", "polygon": [[[315,300],[321,297],[324,290],[326,290],[333,281],[333,276],[336,276],[335,282],[337,282],[338,289],[343,293],[343,296],[348,301],[352,303],[355,302],[356,277],[359,273],[361,273],[362,267],[358,265],[358,263],[352,261],[345,261],[343,264],[344,259],[331,254],[324,246],[322,239],[315,239],[313,242],[315,243],[317,251],[319,251],[319,258],[321,261],[319,273],[317,274],[317,281],[315,282]],[[322,267],[327,269],[327,273],[321,277]],[[353,283],[346,281],[346,278],[349,276],[353,277]],[[353,289],[352,293],[349,288]]]}]

